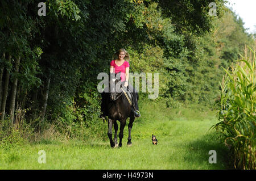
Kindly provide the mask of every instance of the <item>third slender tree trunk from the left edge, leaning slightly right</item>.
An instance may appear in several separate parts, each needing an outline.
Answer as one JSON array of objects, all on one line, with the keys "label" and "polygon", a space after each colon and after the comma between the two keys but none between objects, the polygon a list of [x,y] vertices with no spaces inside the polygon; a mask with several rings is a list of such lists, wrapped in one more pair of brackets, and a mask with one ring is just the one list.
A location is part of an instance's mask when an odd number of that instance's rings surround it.
[{"label": "third slender tree trunk from the left edge, leaning slightly right", "polygon": [[[14,72],[17,74],[19,72],[19,62],[20,62],[20,56],[18,59],[15,61],[15,66],[14,66]],[[18,84],[18,78],[15,76],[14,77],[14,82],[13,82],[13,89],[11,90],[11,97],[10,97],[10,119],[11,119],[11,124],[13,124],[14,120],[14,110],[15,110],[15,98],[16,98],[16,92],[17,92],[17,84]]]}]

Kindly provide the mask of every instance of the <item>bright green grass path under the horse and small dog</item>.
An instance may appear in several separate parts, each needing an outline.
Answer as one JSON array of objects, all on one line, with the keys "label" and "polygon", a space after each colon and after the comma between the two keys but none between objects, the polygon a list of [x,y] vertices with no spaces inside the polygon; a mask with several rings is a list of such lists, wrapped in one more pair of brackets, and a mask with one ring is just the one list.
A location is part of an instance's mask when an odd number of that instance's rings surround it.
[{"label": "bright green grass path under the horse and small dog", "polygon": [[[122,148],[110,148],[109,141],[97,139],[27,144],[0,150],[0,169],[228,169],[226,149],[215,141],[214,131],[209,131],[216,124],[213,112],[160,110],[145,103],[141,113],[131,132],[130,147],[126,146],[126,124]],[[108,125],[104,125],[107,133]],[[152,134],[158,145],[152,145]],[[45,153],[39,155],[39,150]],[[216,151],[216,163],[209,163],[210,150]]]}]

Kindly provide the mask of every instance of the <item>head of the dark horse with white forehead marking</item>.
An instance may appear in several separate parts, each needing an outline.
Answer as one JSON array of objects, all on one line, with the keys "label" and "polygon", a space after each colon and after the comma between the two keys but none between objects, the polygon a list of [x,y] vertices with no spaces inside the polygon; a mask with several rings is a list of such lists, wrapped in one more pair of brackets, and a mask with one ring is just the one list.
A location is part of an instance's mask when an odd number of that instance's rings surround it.
[{"label": "head of the dark horse with white forehead marking", "polygon": [[110,90],[110,99],[115,100],[121,94],[121,71],[119,73],[110,73],[109,79],[109,90]]}]

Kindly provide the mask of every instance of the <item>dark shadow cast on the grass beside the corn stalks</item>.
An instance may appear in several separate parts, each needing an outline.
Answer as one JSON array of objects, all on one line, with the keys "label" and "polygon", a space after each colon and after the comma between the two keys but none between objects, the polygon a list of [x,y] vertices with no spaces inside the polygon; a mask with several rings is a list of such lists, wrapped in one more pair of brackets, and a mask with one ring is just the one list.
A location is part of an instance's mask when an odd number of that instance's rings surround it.
[{"label": "dark shadow cast on the grass beside the corn stalks", "polygon": [[[191,141],[187,144],[189,150],[184,159],[186,162],[191,162],[191,165],[204,165],[211,170],[226,170],[232,169],[228,160],[228,148],[217,140],[217,136],[214,133],[207,133],[204,136],[198,138],[195,141]],[[210,150],[216,151],[216,162],[209,163],[209,157],[213,154]],[[193,169],[193,168],[191,168]]]}]

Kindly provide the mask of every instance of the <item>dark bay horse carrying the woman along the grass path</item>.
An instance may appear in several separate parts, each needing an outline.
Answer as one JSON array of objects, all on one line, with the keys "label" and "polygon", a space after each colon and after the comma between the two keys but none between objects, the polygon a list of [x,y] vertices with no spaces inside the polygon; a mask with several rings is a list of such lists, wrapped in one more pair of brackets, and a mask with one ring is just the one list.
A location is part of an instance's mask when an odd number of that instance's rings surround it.
[{"label": "dark bay horse carrying the woman along the grass path", "polygon": [[[122,83],[120,78],[120,73],[111,73],[109,78],[109,93],[106,94],[106,115],[108,115],[108,137],[110,140],[110,146],[113,147],[121,147],[122,146],[122,138],[123,138],[123,129],[126,125],[126,120],[130,117],[128,129],[129,129],[129,137],[127,146],[131,146],[131,128],[133,127],[133,121],[135,119],[134,114],[131,111],[131,106],[129,101],[127,100],[125,94],[121,90]],[[138,93],[137,100],[138,98]],[[136,99],[136,98],[135,98]],[[120,132],[119,132],[119,144],[117,142],[117,131],[118,124],[117,120],[120,122]],[[114,125],[114,140],[112,138],[112,127]]]}]

